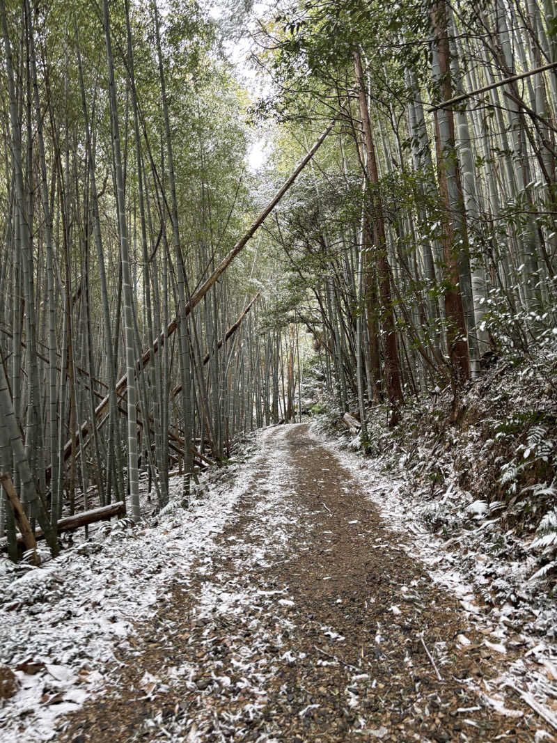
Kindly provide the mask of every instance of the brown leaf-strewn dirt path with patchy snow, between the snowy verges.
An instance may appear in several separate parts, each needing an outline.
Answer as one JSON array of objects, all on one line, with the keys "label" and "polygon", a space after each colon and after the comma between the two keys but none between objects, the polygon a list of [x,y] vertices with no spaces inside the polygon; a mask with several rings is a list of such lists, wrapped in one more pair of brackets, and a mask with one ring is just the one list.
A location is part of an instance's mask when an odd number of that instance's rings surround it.
[{"label": "brown leaf-strewn dirt path with patchy snow, between the snowy verges", "polygon": [[56,740],[526,742],[547,730],[514,692],[491,690],[512,654],[469,626],[307,426],[273,429],[255,465],[218,550],[154,622],[138,617],[105,693]]}]

